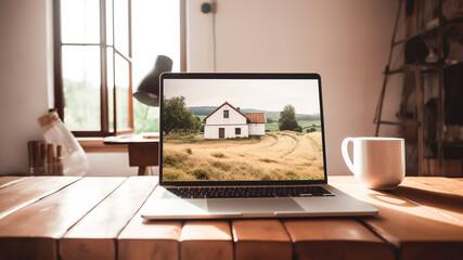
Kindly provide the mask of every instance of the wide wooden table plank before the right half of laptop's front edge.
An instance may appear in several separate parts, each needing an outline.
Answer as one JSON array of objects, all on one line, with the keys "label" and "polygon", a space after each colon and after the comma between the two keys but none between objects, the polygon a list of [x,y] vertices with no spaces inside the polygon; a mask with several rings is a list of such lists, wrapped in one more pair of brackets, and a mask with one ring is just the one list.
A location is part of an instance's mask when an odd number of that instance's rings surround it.
[{"label": "wide wooden table plank before the right half of laptop's front edge", "polygon": [[353,219],[283,221],[298,260],[394,260],[393,247]]}]

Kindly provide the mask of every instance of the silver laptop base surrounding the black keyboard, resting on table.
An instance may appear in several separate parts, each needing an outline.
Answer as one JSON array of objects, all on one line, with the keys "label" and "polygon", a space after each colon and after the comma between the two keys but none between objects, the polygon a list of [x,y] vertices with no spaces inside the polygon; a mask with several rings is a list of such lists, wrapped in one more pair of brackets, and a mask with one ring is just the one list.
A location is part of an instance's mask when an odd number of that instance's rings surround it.
[{"label": "silver laptop base surrounding the black keyboard, resting on table", "polygon": [[241,219],[374,216],[377,209],[330,185],[321,185],[335,196],[283,198],[163,198],[168,191],[158,186],[144,219]]}]

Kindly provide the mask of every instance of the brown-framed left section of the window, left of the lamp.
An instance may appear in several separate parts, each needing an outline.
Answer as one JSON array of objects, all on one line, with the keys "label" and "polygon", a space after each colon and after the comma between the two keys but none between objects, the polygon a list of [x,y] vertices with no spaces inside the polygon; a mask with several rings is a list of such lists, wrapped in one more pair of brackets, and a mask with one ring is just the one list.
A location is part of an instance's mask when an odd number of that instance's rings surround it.
[{"label": "brown-framed left section of the window, left of the lamp", "polygon": [[55,107],[76,136],[133,129],[130,0],[54,0]]}]

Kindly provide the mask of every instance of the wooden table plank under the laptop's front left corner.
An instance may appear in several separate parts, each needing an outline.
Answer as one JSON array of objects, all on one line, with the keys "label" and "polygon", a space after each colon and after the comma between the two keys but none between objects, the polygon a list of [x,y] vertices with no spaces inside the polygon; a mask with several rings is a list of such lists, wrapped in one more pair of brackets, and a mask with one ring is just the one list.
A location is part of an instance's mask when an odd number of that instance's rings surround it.
[{"label": "wooden table plank under the laptop's front left corner", "polygon": [[117,237],[117,259],[178,260],[182,222],[144,220],[140,211],[145,207],[156,207],[151,196]]}]

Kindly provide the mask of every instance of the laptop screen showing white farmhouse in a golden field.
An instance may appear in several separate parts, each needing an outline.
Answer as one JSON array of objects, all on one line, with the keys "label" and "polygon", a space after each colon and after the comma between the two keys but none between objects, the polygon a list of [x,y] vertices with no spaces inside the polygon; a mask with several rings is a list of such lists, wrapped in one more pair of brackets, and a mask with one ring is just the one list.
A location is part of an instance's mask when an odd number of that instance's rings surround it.
[{"label": "laptop screen showing white farmhouse in a golden field", "polygon": [[320,76],[163,74],[160,183],[325,183]]}]

